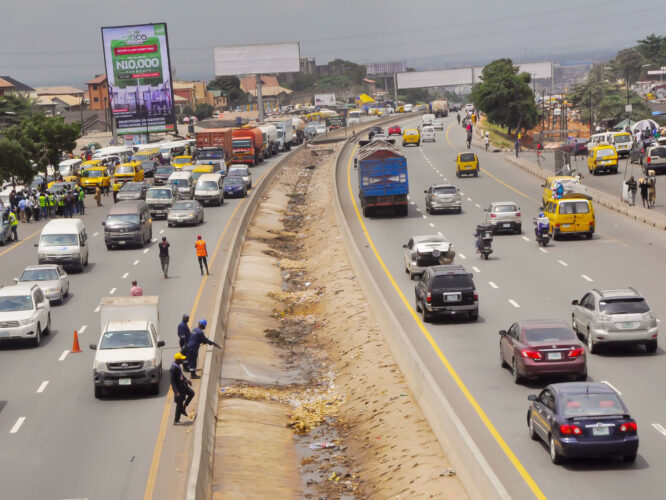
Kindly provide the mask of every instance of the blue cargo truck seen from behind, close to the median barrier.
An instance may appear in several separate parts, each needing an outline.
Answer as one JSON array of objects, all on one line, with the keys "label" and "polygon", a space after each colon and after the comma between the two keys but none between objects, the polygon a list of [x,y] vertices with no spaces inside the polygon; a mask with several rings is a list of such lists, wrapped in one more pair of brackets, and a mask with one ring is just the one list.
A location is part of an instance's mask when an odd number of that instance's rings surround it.
[{"label": "blue cargo truck seen from behind, close to the median barrier", "polygon": [[395,147],[395,140],[359,141],[355,159],[358,170],[358,196],[363,215],[371,217],[378,208],[393,208],[407,215],[407,159]]}]

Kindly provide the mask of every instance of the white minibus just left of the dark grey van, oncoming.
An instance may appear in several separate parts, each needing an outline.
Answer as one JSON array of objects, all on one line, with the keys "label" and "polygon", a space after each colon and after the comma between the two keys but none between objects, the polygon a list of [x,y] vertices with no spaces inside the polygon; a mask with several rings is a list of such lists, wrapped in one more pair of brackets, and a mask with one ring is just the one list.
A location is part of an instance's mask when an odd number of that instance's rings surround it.
[{"label": "white minibus just left of the dark grey van, oncoming", "polygon": [[39,264],[60,264],[79,271],[88,265],[88,234],[81,219],[49,221],[35,246]]}]

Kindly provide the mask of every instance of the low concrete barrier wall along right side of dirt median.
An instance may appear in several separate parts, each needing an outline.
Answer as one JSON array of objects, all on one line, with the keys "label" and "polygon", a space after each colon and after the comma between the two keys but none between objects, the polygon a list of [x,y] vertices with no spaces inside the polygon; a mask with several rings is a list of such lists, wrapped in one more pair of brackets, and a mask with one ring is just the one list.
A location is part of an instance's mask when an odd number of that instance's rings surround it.
[{"label": "low concrete barrier wall along right side of dirt median", "polygon": [[[340,152],[336,171],[346,167],[344,161],[352,149],[348,143]],[[446,394],[442,393],[437,382],[428,371],[407,333],[400,326],[391,307],[384,298],[383,291],[372,277],[361,253],[354,242],[349,224],[342,210],[336,171],[335,215],[343,232],[343,243],[358,283],[364,292],[372,313],[385,334],[391,352],[400,366],[409,388],[414,393],[421,410],[425,414],[442,448],[453,464],[456,472],[471,498],[508,499],[508,492],[486,461],[464,424],[456,415]]]}]

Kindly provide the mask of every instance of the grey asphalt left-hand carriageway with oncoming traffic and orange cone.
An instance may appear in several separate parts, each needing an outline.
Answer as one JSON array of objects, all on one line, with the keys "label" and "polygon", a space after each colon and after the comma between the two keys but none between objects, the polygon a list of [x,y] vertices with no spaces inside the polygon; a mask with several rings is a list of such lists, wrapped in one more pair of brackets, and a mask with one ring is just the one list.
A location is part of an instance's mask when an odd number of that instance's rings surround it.
[{"label": "grey asphalt left-hand carriageway with oncoming traffic and orange cone", "polygon": [[[251,170],[253,186],[280,157],[284,155]],[[4,373],[0,382],[2,498],[121,500],[152,492],[154,484],[148,478],[157,470],[156,442],[160,444],[164,438],[160,422],[169,389],[168,370],[178,346],[176,326],[183,313],[196,313],[191,327],[195,320],[212,314],[210,297],[201,297],[201,292],[215,295],[204,285],[219,279],[213,274],[221,265],[214,263],[223,262],[225,245],[218,241],[234,231],[236,209],[243,203],[228,199],[222,207],[205,208],[205,222],[198,227],[167,228],[166,221],[153,221],[153,242],[145,249],[108,251],[101,223],[113,199],[109,196],[102,202],[104,206],[98,208],[91,196],[86,198],[86,214],[81,219],[88,231],[90,264],[83,273],[70,274],[70,296],[64,304],[51,306],[51,335],[37,348],[0,346]],[[19,243],[0,249],[0,284],[11,284],[25,266],[37,263],[33,244],[43,225],[43,221],[21,224]],[[199,273],[194,251],[198,234],[208,243],[211,280]],[[157,250],[162,236],[171,243],[166,280]],[[92,382],[94,351],[88,348],[99,338],[97,306],[102,297],[129,295],[133,279],[143,287],[144,295],[160,297],[161,338],[166,341],[160,394],[117,393],[97,400]],[[210,323],[210,317],[208,320]],[[69,352],[74,330],[78,330],[83,353]],[[191,427],[172,428],[172,419],[171,405],[168,432],[190,432]],[[159,459],[159,453],[156,456]]]}]

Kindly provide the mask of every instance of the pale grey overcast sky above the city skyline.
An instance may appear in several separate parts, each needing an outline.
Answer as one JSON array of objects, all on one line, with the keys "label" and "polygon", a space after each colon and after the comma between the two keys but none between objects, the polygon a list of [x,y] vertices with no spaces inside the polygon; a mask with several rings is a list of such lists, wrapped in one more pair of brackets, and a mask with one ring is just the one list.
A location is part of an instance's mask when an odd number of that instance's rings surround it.
[{"label": "pale grey overcast sky above the city skyline", "polygon": [[208,80],[216,45],[297,41],[317,64],[436,69],[617,50],[664,34],[665,14],[627,0],[22,0],[2,7],[0,75],[82,87],[104,72],[100,27],[144,22],[167,23],[176,78]]}]

